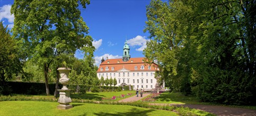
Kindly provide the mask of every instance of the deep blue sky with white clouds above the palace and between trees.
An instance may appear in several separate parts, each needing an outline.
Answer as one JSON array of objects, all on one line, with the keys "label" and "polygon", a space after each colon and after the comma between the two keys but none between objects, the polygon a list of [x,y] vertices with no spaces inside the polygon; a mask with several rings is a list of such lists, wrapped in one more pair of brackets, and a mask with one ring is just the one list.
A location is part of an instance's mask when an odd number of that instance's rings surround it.
[{"label": "deep blue sky with white clouds above the palace and between trees", "polygon": [[[102,56],[120,58],[126,40],[131,57],[144,57],[143,50],[149,34],[144,33],[143,29],[147,21],[146,5],[149,3],[149,0],[91,0],[86,9],[81,7],[81,16],[90,28],[89,35],[93,37],[93,45],[96,47],[96,65],[100,64]],[[0,20],[11,29],[14,16],[10,14],[10,8],[13,1],[1,0],[0,4]],[[83,58],[79,51],[75,56]]]}]

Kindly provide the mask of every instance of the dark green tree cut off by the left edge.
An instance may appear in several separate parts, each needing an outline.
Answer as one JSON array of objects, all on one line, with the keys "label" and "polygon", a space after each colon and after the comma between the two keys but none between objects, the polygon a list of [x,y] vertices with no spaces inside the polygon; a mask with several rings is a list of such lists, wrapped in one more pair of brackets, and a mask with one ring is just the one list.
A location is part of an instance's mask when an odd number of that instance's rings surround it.
[{"label": "dark green tree cut off by the left edge", "polygon": [[[12,79],[13,74],[22,73],[22,62],[20,57],[22,55],[19,51],[19,46],[15,44],[15,40],[11,38],[7,30],[7,26],[4,27],[3,22],[0,22],[0,92],[5,90],[5,82]],[[21,57],[22,58],[22,57]],[[7,93],[8,94],[8,93]]]}]

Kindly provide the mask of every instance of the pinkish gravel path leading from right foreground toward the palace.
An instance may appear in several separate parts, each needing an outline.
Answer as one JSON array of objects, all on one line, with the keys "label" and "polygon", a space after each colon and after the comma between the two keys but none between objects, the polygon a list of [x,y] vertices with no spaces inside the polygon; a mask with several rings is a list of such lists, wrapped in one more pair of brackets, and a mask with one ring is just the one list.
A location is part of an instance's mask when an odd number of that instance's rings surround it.
[{"label": "pinkish gravel path leading from right foreground toward the palace", "polygon": [[[135,102],[138,100],[143,99],[150,93],[144,93],[143,97],[136,97],[131,96],[130,98],[120,100],[118,102]],[[232,108],[232,107],[225,107],[225,106],[219,106],[219,105],[200,105],[200,104],[167,104],[167,103],[149,103],[150,105],[175,105],[178,107],[188,107],[192,109],[202,110],[206,112],[210,112],[216,115],[254,115],[256,116],[256,110],[250,110],[250,109],[244,109],[244,108]]]}]

